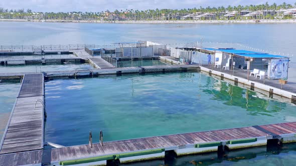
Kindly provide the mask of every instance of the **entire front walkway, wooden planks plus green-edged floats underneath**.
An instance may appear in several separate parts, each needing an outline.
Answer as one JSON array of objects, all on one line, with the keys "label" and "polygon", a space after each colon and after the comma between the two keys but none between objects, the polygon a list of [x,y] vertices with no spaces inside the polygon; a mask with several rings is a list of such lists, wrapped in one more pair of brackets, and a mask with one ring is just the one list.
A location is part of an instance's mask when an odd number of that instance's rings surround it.
[{"label": "entire front walkway, wooden planks plus green-edged floats underneath", "polygon": [[[172,134],[164,136],[152,136],[119,141],[109,141],[85,145],[54,148],[51,151],[52,164],[77,164],[108,159],[123,159],[137,155],[163,153],[167,150],[175,150],[177,153],[194,151],[223,144],[229,146],[254,146],[264,145],[267,139],[296,140],[296,122],[210,130]],[[181,150],[181,151],[178,151]],[[214,150],[213,150],[214,151]],[[91,158],[89,158],[91,157]],[[93,158],[94,157],[94,158]],[[150,156],[151,157],[151,156]],[[126,158],[125,158],[126,159]]]}]

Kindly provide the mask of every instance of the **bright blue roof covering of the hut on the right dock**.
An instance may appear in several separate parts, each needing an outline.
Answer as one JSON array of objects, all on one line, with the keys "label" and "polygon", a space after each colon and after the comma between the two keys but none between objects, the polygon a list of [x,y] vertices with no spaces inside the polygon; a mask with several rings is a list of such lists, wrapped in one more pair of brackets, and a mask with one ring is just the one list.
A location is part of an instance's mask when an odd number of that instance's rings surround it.
[{"label": "bright blue roof covering of the hut on the right dock", "polygon": [[238,56],[243,57],[252,57],[252,58],[286,58],[285,56],[281,55],[273,55],[264,52],[254,52],[249,50],[242,50],[242,49],[233,49],[233,48],[204,48],[205,50],[211,51],[222,51],[226,53],[232,53]]}]

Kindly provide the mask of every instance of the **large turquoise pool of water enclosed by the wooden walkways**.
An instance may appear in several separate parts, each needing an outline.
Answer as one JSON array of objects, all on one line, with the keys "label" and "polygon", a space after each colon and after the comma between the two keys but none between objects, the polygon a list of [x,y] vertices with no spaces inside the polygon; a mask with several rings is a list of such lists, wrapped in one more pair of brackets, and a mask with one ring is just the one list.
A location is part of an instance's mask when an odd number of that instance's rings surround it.
[{"label": "large turquoise pool of water enclosed by the wooden walkways", "polygon": [[[45,141],[104,140],[296,121],[295,105],[198,72],[46,82]],[[247,94],[247,95],[246,95]]]}]

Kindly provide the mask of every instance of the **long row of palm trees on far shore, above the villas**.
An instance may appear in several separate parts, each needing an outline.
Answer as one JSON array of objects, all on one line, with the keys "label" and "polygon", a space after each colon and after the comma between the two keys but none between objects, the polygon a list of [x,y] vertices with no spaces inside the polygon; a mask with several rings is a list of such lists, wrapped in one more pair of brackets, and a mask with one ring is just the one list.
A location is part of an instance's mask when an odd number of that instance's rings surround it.
[{"label": "long row of palm trees on far shore, above the villas", "polygon": [[[271,5],[266,2],[265,4],[259,5],[237,5],[227,7],[202,7],[199,8],[184,8],[184,9],[147,9],[147,10],[138,10],[138,9],[120,9],[115,10],[114,12],[109,11],[97,11],[97,12],[81,12],[81,11],[72,11],[72,12],[33,12],[31,9],[5,9],[0,7],[0,15],[2,18],[19,18],[26,19],[30,16],[33,16],[32,19],[69,19],[69,20],[84,20],[84,19],[113,19],[116,20],[159,20],[159,19],[180,19],[181,16],[192,13],[224,13],[226,11],[263,11],[263,10],[280,10],[280,9],[289,9],[296,7],[296,2],[294,4],[288,4],[283,2],[282,4],[273,3]],[[35,17],[34,17],[35,15]],[[39,15],[39,16],[36,16]],[[40,16],[42,15],[42,16]],[[268,17],[270,18],[270,17]],[[219,19],[215,18],[215,19]],[[240,17],[235,17],[235,19],[240,19]]]}]

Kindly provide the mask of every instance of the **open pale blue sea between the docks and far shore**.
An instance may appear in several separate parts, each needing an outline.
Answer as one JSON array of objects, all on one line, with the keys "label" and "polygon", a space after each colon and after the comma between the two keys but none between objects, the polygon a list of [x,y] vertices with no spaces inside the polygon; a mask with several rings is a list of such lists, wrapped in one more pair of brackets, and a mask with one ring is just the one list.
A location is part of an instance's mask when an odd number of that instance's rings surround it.
[{"label": "open pale blue sea between the docks and far shore", "polygon": [[112,42],[151,40],[170,46],[196,46],[195,43],[200,46],[202,38],[203,47],[235,47],[289,56],[289,80],[296,82],[295,29],[296,23],[121,24],[0,21],[0,45],[107,45]]}]

